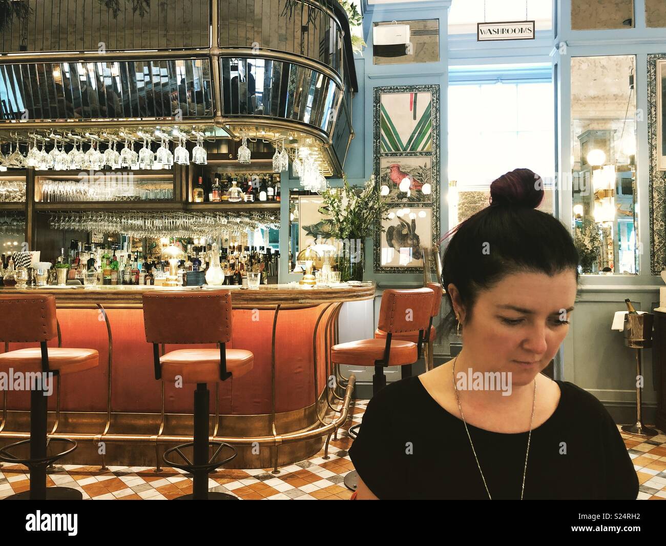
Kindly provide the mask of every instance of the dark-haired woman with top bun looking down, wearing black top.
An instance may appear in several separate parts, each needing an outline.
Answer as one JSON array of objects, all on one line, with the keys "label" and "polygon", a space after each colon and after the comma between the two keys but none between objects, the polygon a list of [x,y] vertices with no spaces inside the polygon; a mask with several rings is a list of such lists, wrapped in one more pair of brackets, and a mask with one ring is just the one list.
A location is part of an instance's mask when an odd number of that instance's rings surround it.
[{"label": "dark-haired woman with top bun looking down, wearing black top", "polygon": [[349,454],[358,499],[635,499],[613,419],[541,371],[569,331],[578,256],[535,209],[541,179],[516,169],[454,229],[442,285],[458,356],[372,398]]}]

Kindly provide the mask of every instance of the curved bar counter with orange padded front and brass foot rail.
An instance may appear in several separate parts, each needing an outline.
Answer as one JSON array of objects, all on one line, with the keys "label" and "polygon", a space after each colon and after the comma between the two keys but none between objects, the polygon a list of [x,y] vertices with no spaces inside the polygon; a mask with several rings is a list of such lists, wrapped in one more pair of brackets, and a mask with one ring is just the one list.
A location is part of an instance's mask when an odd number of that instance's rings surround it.
[{"label": "curved bar counter with orange padded front and brass foot rail", "polygon": [[[349,379],[346,389],[341,387],[339,371],[329,359],[340,309],[347,301],[373,299],[374,283],[222,288],[232,294],[230,348],[254,353],[250,373],[209,385],[210,434],[238,449],[238,457],[226,466],[276,470],[314,455],[324,437],[346,420],[354,385],[352,375],[344,378]],[[141,309],[141,297],[149,290],[208,291],[123,285],[0,289],[0,295],[53,294],[60,335],[49,346],[61,343],[99,351],[99,367],[65,377],[61,391],[49,400],[52,436],[79,442],[79,449],[64,463],[159,469],[165,449],[192,441],[194,385],[176,388],[154,376],[152,344],[145,341]],[[191,320],[206,318],[194,315]],[[5,351],[31,346],[9,345]],[[214,346],[167,345],[162,352],[187,347]],[[30,397],[27,391],[2,396],[0,445],[5,445],[29,437]]]}]

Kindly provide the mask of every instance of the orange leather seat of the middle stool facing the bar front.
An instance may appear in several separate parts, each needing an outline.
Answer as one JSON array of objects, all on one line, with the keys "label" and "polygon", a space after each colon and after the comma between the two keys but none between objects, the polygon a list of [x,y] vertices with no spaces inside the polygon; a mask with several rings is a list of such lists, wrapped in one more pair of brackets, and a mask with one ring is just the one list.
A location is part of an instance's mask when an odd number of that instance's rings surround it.
[{"label": "orange leather seat of the middle stool facing the bar front", "polygon": [[[244,349],[226,349],[226,371],[235,379],[252,370],[254,355]],[[178,349],[160,357],[162,379],[183,383],[216,383],[220,380],[220,349]]]}]

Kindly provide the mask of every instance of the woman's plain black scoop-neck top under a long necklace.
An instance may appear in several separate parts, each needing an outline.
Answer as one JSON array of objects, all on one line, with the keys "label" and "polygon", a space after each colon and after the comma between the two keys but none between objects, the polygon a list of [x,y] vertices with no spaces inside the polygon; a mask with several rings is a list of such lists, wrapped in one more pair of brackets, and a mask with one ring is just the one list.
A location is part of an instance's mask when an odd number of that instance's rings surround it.
[{"label": "woman's plain black scoop-neck top under a long necklace", "polygon": [[[524,499],[636,499],[638,477],[617,426],[593,395],[557,381],[555,412],[533,429]],[[349,455],[380,499],[488,499],[462,420],[418,377],[390,383],[366,409]],[[493,499],[520,499],[527,432],[468,425]]]}]

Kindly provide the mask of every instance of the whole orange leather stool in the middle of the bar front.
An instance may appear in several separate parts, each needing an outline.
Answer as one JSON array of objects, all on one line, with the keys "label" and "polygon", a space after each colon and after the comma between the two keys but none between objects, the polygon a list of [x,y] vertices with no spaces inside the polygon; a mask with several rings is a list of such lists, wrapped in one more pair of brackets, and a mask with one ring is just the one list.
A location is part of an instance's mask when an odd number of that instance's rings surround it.
[{"label": "whole orange leather stool in the middle of the bar front", "polygon": [[[192,317],[206,317],[199,323]],[[184,469],[194,476],[191,495],[178,499],[236,500],[234,495],[208,491],[208,473],[236,457],[236,449],[223,442],[211,442],[208,435],[210,396],[206,383],[226,381],[229,377],[240,377],[254,365],[254,355],[243,349],[226,349],[231,341],[231,293],[228,290],[192,293],[185,291],[153,292],[143,295],[143,320],[146,341],[153,343],[155,379],[182,383],[196,383],[194,391],[194,441],[167,449],[163,455],[171,467]],[[160,343],[219,343],[219,349],[179,349],[160,357]],[[208,458],[208,447],[216,447]],[[182,449],[192,447],[192,461]],[[233,454],[216,461],[223,448]],[[174,463],[168,459],[176,452],[185,463]]]}]

